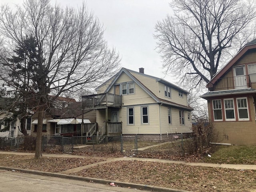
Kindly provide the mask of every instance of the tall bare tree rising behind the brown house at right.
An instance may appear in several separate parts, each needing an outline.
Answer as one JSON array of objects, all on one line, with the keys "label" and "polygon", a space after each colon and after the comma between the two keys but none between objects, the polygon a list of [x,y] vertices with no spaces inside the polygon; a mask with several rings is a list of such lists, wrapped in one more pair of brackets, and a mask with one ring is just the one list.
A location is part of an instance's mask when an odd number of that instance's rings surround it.
[{"label": "tall bare tree rising behind the brown house at right", "polygon": [[230,54],[254,38],[255,1],[172,0],[156,24],[163,68],[190,87],[205,85]]}]

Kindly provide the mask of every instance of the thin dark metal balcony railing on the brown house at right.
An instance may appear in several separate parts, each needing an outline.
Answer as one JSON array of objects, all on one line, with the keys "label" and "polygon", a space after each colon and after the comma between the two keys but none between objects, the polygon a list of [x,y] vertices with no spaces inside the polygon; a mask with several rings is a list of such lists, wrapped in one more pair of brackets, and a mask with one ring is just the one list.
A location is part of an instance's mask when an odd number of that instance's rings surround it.
[{"label": "thin dark metal balcony railing on the brown house at right", "polygon": [[240,88],[250,88],[250,87],[251,87],[251,81],[250,81],[249,75],[219,78],[214,84],[211,84],[211,83],[208,84],[208,88],[210,91],[240,89]]}]

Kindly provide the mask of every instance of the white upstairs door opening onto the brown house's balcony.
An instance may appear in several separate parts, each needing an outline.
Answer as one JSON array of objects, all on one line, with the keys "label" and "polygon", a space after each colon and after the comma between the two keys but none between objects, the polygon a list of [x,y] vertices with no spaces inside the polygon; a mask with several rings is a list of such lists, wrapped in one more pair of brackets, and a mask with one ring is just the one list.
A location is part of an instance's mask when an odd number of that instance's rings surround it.
[{"label": "white upstairs door opening onto the brown house's balcony", "polygon": [[247,88],[245,67],[234,67],[234,85],[235,89]]}]

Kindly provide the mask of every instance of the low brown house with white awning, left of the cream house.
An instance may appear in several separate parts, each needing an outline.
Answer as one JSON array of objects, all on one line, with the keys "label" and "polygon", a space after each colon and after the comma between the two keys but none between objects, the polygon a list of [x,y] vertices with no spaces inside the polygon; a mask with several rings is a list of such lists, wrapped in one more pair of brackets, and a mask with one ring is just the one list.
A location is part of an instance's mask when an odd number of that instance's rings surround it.
[{"label": "low brown house with white awning, left of the cream house", "polygon": [[[81,102],[76,102],[74,99],[63,97],[56,102],[57,108],[46,111],[43,120],[43,135],[62,135],[72,134],[79,136],[81,132],[82,123],[82,109]],[[60,108],[62,106],[62,108]],[[59,108],[58,108],[59,107]],[[31,135],[36,136],[38,113],[32,115],[31,120]],[[84,123],[95,123],[96,111],[84,111]],[[70,133],[70,134],[69,134]]]}]

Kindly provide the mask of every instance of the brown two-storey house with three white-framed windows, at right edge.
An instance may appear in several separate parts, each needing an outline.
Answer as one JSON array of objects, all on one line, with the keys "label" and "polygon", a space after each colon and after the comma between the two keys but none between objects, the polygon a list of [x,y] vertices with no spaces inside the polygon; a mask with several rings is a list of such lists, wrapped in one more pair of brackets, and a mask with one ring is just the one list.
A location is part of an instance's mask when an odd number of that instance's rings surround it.
[{"label": "brown two-storey house with three white-framed windows, at right edge", "polygon": [[217,142],[256,144],[256,39],[248,42],[207,84],[209,118]]}]

